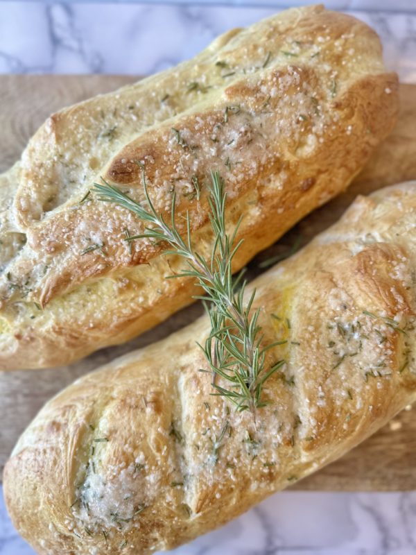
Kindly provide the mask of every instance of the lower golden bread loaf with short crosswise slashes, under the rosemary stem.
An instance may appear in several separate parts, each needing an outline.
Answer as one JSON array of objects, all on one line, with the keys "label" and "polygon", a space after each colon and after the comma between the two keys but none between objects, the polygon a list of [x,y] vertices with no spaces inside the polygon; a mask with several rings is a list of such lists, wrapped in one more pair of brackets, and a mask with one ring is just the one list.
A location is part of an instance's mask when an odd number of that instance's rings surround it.
[{"label": "lower golden bread loaf with short crosswise slashes, under the rosemary stem", "polygon": [[381,189],[253,282],[266,341],[287,339],[255,420],[198,372],[205,316],[51,400],[6,465],[21,535],[44,555],[171,549],[370,436],[416,399],[415,224],[416,182]]}]

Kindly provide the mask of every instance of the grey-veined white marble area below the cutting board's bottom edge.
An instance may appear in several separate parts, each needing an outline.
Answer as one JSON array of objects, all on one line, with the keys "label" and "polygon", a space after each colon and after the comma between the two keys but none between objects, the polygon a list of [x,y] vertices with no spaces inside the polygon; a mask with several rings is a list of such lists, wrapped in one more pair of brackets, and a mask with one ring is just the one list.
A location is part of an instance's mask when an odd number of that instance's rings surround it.
[{"label": "grey-veined white marble area below the cutting board's bottom edge", "polygon": [[[413,555],[416,492],[277,493],[225,527],[173,553]],[[0,555],[33,554],[33,549],[18,538],[0,505]]]}]

